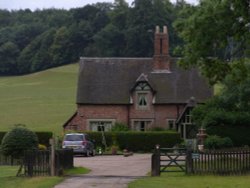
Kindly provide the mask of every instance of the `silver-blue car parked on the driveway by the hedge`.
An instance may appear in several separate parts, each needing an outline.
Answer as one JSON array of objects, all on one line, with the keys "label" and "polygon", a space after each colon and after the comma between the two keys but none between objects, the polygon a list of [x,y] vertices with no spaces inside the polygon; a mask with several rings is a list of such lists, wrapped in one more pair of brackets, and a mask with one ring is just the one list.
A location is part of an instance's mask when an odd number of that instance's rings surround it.
[{"label": "silver-blue car parked on the driveway by the hedge", "polygon": [[62,147],[64,149],[72,148],[74,154],[83,154],[87,157],[95,155],[94,142],[84,133],[65,134]]}]

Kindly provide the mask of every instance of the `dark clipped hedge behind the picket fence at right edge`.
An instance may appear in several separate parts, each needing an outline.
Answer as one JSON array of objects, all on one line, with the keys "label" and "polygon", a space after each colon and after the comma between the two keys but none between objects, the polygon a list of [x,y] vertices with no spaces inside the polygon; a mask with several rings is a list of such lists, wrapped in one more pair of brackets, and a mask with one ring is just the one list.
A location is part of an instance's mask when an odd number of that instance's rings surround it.
[{"label": "dark clipped hedge behind the picket fence at right edge", "polygon": [[211,126],[207,128],[209,135],[229,137],[235,147],[250,146],[250,127],[243,126]]}]

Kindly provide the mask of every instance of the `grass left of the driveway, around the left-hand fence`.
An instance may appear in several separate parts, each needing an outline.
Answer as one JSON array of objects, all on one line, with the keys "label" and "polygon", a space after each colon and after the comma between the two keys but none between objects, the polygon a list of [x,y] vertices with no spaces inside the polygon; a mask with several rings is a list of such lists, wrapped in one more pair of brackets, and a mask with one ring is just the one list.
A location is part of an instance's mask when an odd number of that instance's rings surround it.
[{"label": "grass left of the driveway, around the left-hand fence", "polygon": [[[0,188],[52,188],[64,180],[64,177],[15,177],[19,166],[0,166]],[[86,174],[90,170],[76,167],[65,172],[65,175]]]}]

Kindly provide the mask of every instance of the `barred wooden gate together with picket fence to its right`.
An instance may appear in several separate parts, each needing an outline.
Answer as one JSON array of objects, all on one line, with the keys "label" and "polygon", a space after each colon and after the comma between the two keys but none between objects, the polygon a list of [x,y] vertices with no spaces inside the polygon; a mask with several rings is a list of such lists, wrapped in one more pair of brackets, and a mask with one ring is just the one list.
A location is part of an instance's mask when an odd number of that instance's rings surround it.
[{"label": "barred wooden gate together with picket fence to its right", "polygon": [[186,174],[248,174],[250,150],[242,148],[204,152],[170,148],[155,150],[152,155],[152,176],[159,176],[162,172],[178,171]]}]

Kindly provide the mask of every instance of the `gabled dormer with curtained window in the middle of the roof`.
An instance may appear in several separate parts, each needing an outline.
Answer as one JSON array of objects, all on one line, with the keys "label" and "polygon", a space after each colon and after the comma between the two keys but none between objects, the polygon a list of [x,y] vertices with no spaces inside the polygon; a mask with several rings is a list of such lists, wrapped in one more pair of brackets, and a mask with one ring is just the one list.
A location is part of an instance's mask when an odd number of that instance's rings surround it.
[{"label": "gabled dormer with curtained window in the middle of the roof", "polygon": [[135,104],[136,110],[149,110],[154,103],[155,91],[150,85],[147,75],[142,73],[131,89],[130,103]]}]

